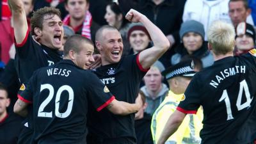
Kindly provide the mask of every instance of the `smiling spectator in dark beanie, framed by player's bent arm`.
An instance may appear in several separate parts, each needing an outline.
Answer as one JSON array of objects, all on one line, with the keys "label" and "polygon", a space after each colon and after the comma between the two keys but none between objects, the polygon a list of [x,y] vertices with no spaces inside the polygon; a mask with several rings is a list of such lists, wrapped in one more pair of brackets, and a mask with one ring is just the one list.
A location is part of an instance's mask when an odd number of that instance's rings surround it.
[{"label": "smiling spectator in dark beanie, framed by player's bent arm", "polygon": [[129,43],[131,45],[131,50],[129,52],[130,54],[137,54],[144,49],[148,49],[149,47],[152,47],[151,38],[150,35],[143,26],[143,24],[140,23],[133,23],[130,25],[127,38],[129,40]]}]

